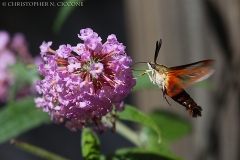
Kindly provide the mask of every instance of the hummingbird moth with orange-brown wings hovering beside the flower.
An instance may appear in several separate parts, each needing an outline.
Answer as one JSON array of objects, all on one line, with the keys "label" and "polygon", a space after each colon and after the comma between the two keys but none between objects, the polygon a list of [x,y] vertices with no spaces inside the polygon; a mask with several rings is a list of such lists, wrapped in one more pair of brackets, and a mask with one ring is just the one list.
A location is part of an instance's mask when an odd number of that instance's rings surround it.
[{"label": "hummingbird moth with orange-brown wings hovering beside the flower", "polygon": [[[160,39],[160,41],[156,42],[153,62],[139,62],[147,63],[149,68],[139,76],[148,74],[150,81],[153,84],[158,85],[162,90],[163,97],[166,99],[166,101],[167,95],[180,105],[184,106],[192,117],[202,116],[202,108],[197,105],[197,103],[183,88],[211,76],[214,70],[209,66],[213,63],[214,60],[208,59],[168,68],[156,62],[161,45],[162,40]],[[151,73],[151,75],[149,73]]]}]

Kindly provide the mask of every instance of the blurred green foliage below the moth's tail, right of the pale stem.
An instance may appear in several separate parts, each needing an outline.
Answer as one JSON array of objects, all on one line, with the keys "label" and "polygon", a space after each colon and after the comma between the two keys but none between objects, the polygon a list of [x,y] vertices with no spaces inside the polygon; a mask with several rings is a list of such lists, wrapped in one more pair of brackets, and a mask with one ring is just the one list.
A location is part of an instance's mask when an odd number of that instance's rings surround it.
[{"label": "blurred green foliage below the moth's tail, right of the pale stem", "polygon": [[162,142],[157,143],[158,135],[151,128],[143,126],[141,136],[147,141],[147,148],[173,155],[170,149],[170,143],[186,136],[192,132],[192,126],[189,121],[168,113],[165,111],[153,111],[149,114],[158,125],[161,127]]}]

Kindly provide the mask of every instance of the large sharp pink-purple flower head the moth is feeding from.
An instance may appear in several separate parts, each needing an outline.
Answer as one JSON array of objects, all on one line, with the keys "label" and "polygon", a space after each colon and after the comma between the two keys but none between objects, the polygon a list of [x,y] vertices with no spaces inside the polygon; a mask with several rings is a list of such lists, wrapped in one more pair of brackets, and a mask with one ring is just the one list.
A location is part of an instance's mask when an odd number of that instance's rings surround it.
[{"label": "large sharp pink-purple flower head the moth is feeding from", "polygon": [[60,45],[56,51],[50,48],[52,42],[40,46],[45,63],[38,70],[44,79],[35,84],[42,94],[35,102],[53,121],[66,121],[72,131],[91,122],[100,131],[102,116],[113,106],[122,111],[124,98],[136,84],[129,68],[132,60],[113,34],[104,44],[90,28],[80,30],[78,37],[84,43]]}]

